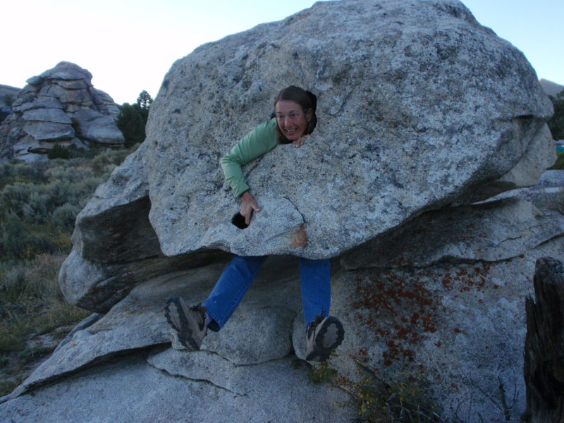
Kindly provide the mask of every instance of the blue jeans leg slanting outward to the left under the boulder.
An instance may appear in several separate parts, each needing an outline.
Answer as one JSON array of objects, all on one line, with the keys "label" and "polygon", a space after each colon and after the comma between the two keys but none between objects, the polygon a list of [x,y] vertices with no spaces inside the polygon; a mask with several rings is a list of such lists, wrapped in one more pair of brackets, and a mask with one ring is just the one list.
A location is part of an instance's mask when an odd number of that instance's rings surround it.
[{"label": "blue jeans leg slanting outward to the left under the boulder", "polygon": [[229,262],[219,276],[212,293],[202,303],[207,308],[209,316],[214,319],[208,326],[210,330],[219,331],[226,324],[267,257],[235,256]]}]

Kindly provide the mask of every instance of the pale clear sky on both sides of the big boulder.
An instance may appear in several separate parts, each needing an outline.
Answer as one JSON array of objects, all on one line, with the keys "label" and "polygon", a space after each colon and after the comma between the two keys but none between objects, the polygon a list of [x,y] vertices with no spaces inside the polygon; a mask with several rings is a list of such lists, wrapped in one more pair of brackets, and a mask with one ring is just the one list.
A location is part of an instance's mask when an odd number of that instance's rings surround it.
[{"label": "pale clear sky on both sides of the big boulder", "polygon": [[[363,0],[360,0],[363,1]],[[403,0],[398,0],[403,1]],[[564,85],[564,0],[465,0],[479,23]],[[118,104],[154,98],[172,63],[205,42],[309,8],[311,0],[11,0],[0,6],[0,84],[71,61]]]}]

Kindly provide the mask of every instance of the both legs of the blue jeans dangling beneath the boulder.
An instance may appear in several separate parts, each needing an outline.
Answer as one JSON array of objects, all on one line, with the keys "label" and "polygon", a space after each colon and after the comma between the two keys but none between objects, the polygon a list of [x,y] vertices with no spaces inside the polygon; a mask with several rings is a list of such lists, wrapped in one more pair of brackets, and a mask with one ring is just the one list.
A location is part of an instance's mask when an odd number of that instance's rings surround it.
[{"label": "both legs of the blue jeans dangling beneath the boulder", "polygon": [[[219,331],[235,311],[267,256],[235,256],[223,271],[203,306],[212,319],[209,329]],[[331,278],[329,260],[300,257],[300,283],[305,324],[319,314],[329,313]]]}]

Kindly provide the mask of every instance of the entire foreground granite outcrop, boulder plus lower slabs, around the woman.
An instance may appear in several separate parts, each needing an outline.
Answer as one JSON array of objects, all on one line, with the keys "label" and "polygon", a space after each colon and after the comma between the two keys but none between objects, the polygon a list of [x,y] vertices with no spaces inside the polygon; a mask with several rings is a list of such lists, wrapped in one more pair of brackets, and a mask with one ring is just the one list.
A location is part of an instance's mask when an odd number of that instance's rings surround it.
[{"label": "entire foreground granite outcrop, boulder plus lower slabs, around the woman", "polygon": [[[318,127],[300,149],[279,146],[244,168],[262,211],[241,230],[219,158],[290,84],[318,94]],[[196,49],[166,75],[147,140],[77,218],[61,289],[104,315],[4,398],[0,416],[49,421],[54,405],[31,411],[40,401],[92,387],[132,419],[163,412],[160,393],[173,391],[194,419],[243,422],[262,410],[255,391],[270,396],[276,381],[275,408],[255,420],[357,417],[350,397],[302,384],[301,256],[331,258],[341,380],[412,374],[443,417],[517,419],[534,263],[564,255],[560,176],[523,188],[554,160],[551,113],[525,57],[458,1],[319,3]],[[307,245],[296,243],[303,231]],[[223,252],[273,257],[201,351],[178,350],[164,302],[204,300]],[[118,364],[99,366],[108,360]],[[132,375],[158,393],[124,401]],[[96,419],[99,397],[82,419]],[[235,404],[241,414],[223,415]],[[185,418],[175,413],[163,418]]]}]

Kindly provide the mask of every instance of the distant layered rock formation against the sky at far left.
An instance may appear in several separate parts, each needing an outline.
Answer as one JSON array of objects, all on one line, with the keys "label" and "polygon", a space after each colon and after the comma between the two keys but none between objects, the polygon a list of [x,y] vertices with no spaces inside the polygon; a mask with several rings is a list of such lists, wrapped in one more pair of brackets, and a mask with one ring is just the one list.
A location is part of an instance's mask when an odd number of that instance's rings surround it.
[{"label": "distant layered rock formation against the sky at far left", "polygon": [[0,126],[0,160],[42,159],[56,143],[121,147],[118,106],[91,81],[90,72],[69,62],[28,79]]}]

